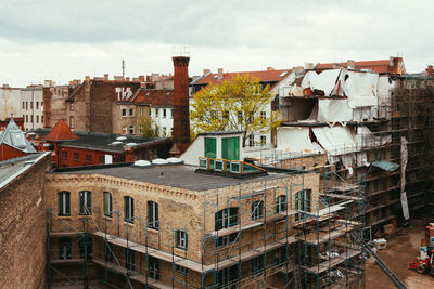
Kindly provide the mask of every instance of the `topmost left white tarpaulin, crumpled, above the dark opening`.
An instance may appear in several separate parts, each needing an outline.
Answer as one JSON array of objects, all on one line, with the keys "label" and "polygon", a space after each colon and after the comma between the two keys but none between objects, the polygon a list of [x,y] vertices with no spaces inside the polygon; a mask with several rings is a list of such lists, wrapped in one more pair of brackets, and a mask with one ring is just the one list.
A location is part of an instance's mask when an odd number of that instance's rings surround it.
[{"label": "topmost left white tarpaulin, crumpled, above the dark opening", "polygon": [[340,73],[341,69],[330,69],[322,71],[321,74],[308,71],[303,78],[302,88],[310,88],[312,91],[322,90],[324,95],[329,96],[336,84],[336,79]]}]

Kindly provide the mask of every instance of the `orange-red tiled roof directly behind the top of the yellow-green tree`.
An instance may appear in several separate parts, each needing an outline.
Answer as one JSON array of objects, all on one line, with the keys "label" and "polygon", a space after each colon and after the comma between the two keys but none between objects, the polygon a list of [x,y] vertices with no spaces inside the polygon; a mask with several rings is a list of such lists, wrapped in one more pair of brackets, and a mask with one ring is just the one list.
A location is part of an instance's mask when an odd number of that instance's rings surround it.
[{"label": "orange-red tiled roof directly behind the top of the yellow-green tree", "polygon": [[215,84],[225,80],[231,80],[238,75],[240,76],[253,76],[260,80],[260,82],[276,82],[271,87],[275,88],[280,81],[285,79],[292,69],[268,69],[268,70],[259,70],[259,71],[240,71],[240,73],[224,73],[222,78],[218,79],[218,74],[209,74],[201,79],[197,79],[194,84],[205,84],[208,86],[209,83]]}]

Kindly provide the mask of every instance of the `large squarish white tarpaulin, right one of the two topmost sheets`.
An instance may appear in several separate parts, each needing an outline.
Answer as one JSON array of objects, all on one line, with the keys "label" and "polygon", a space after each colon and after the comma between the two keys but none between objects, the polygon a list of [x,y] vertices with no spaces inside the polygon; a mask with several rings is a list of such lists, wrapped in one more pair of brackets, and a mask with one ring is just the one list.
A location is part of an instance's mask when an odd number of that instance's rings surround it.
[{"label": "large squarish white tarpaulin, right one of the two topmost sheets", "polygon": [[360,106],[376,106],[376,84],[379,74],[356,73],[342,69],[340,75],[341,87],[348,97],[348,106],[352,108]]}]

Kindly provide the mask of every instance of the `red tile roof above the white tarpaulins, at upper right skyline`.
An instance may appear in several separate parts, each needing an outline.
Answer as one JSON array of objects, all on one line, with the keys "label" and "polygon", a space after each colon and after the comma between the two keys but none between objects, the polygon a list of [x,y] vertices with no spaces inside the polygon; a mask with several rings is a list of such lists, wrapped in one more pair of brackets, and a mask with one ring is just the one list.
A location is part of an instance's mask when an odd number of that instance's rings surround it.
[{"label": "red tile roof above the white tarpaulins, at upper right skyline", "polygon": [[[335,65],[348,67],[347,62],[320,63],[315,67],[315,70],[333,69],[336,68]],[[378,74],[403,74],[403,65],[401,57],[392,57],[391,60],[355,62],[355,69],[371,69]]]}]

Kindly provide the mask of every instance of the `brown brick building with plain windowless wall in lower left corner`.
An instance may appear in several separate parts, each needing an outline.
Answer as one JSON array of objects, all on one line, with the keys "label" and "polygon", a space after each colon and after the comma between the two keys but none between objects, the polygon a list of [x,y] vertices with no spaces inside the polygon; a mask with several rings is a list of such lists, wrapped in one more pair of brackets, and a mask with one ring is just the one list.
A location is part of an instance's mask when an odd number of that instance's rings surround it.
[{"label": "brown brick building with plain windowless wall in lower left corner", "polygon": [[46,288],[49,155],[0,161],[0,288]]}]

